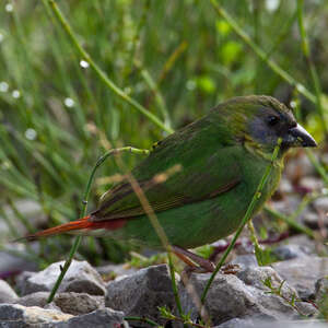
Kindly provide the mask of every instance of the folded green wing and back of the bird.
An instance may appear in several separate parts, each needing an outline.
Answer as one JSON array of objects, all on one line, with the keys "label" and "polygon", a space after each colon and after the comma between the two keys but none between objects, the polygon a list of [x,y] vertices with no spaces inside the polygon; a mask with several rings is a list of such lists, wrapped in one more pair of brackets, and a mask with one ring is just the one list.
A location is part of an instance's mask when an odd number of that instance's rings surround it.
[{"label": "folded green wing and back of the bird", "polygon": [[[241,181],[236,160],[241,147],[222,144],[218,130],[209,127],[213,128],[200,120],[167,137],[131,172],[155,212],[216,197]],[[102,197],[92,220],[144,213],[138,196],[125,180]]]}]

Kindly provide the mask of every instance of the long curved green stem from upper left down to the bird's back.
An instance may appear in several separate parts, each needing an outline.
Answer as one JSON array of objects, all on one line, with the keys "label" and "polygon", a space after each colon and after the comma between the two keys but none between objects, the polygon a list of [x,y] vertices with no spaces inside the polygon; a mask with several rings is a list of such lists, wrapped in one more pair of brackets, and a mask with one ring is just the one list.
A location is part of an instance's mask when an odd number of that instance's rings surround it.
[{"label": "long curved green stem from upper left down to the bird's back", "polygon": [[[44,0],[45,1],[45,0]],[[89,52],[86,52],[81,44],[79,43],[75,33],[73,32],[72,27],[70,26],[67,19],[61,13],[60,9],[58,8],[55,0],[48,0],[50,4],[50,9],[52,10],[55,16],[58,19],[60,25],[71,39],[74,48],[79,52],[79,55],[89,62],[90,67],[94,70],[96,75],[101,81],[105,83],[105,85],[112,90],[116,95],[118,95],[120,98],[122,98],[126,103],[130,104],[133,108],[136,108],[138,112],[143,114],[147,118],[149,118],[153,124],[155,124],[157,127],[163,129],[164,131],[168,133],[173,133],[173,129],[167,127],[164,122],[162,122],[155,115],[150,113],[147,108],[144,108],[140,103],[138,103],[136,99],[131,98],[129,95],[127,95],[120,87],[118,87],[108,77],[107,74],[95,63],[95,61],[92,59]]]}]

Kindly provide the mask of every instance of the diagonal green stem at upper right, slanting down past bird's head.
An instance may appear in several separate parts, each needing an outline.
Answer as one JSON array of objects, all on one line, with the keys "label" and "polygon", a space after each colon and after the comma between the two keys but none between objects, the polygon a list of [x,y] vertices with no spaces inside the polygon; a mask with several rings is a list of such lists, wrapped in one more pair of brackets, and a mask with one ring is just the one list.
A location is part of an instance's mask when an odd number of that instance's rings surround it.
[{"label": "diagonal green stem at upper right, slanting down past bird's head", "polygon": [[316,103],[316,96],[308,91],[302,83],[297,82],[292,75],[290,75],[284,69],[282,69],[276,61],[269,59],[266,51],[263,51],[244,30],[239,24],[218,3],[216,0],[211,0],[211,3],[216,11],[216,13],[222,16],[226,23],[232,27],[232,30],[247,44],[251,50],[263,60],[268,67],[277,73],[280,78],[286,81],[289,84],[296,87],[296,90],[308,98],[312,103]]}]

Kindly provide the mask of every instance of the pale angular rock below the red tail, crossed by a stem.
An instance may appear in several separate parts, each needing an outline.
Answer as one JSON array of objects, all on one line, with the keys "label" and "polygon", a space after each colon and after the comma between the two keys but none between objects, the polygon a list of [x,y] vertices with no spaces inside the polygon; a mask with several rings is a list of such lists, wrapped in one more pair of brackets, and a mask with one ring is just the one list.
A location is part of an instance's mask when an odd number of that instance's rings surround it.
[{"label": "pale angular rock below the red tail, crossed by a stem", "polygon": [[[24,272],[19,283],[22,295],[51,291],[60,273],[60,266],[63,266],[63,261],[52,263],[37,273]],[[105,295],[106,288],[101,276],[86,261],[74,260],[58,291]]]}]

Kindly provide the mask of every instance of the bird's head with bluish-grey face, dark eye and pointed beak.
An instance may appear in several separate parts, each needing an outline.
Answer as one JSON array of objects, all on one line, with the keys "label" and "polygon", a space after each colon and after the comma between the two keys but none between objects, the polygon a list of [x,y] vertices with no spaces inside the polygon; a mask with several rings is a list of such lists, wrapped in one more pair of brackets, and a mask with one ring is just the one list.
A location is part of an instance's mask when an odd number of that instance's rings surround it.
[{"label": "bird's head with bluish-grey face, dark eye and pointed beak", "polygon": [[[218,107],[232,134],[247,147],[272,153],[282,139],[281,154],[293,147],[316,147],[313,137],[296,122],[291,109],[270,96],[243,96]],[[220,110],[222,109],[222,110]]]}]

